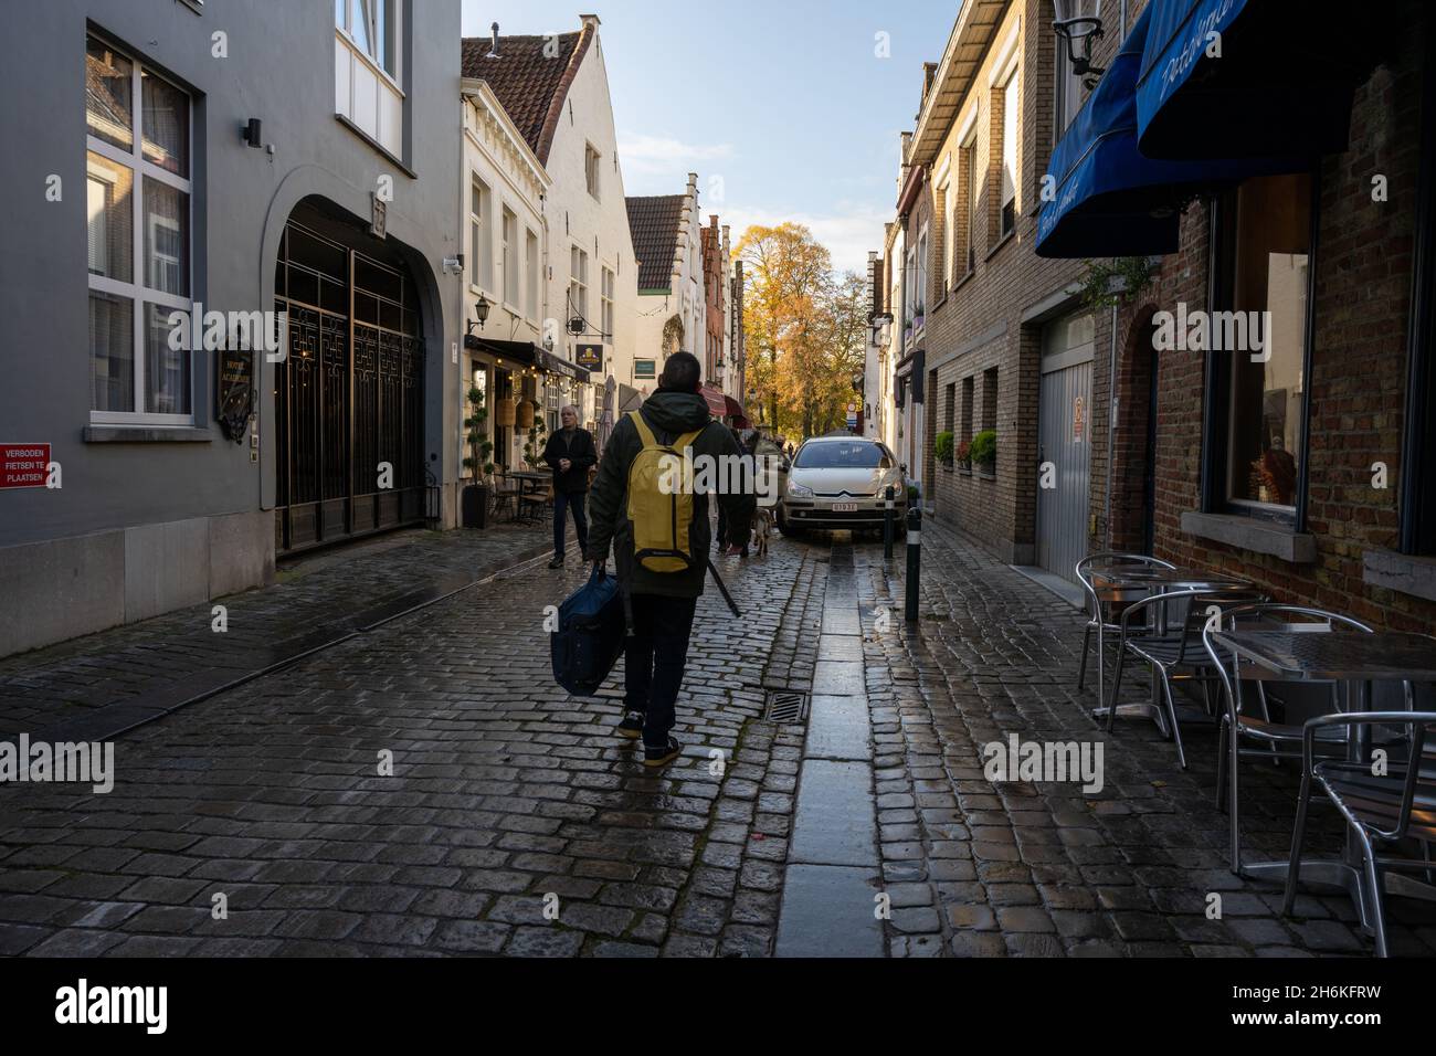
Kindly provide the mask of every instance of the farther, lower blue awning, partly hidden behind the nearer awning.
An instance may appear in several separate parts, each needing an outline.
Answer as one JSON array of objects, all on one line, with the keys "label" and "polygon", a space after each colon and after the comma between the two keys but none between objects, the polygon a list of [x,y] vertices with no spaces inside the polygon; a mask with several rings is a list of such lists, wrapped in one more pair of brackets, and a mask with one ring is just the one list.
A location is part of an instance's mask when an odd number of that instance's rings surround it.
[{"label": "farther, lower blue awning, partly hidden behind the nearer awning", "polygon": [[[1175,253],[1180,211],[1196,197],[1251,175],[1307,168],[1304,161],[1281,158],[1153,161],[1137,148],[1137,75],[1155,6],[1137,19],[1053,151],[1048,172],[1057,180],[1057,197],[1037,217],[1040,257]],[[1219,141],[1211,128],[1203,134]]]}]

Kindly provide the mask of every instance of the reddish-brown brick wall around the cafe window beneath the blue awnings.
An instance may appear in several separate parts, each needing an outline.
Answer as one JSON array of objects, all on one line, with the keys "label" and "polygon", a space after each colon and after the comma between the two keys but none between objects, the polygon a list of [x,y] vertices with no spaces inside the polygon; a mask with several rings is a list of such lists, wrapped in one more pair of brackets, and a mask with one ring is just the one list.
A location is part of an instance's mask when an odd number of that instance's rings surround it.
[{"label": "reddish-brown brick wall around the cafe window beneath the blue awnings", "polygon": [[[1146,371],[1159,371],[1156,553],[1246,576],[1279,601],[1317,605],[1381,626],[1432,632],[1436,603],[1371,588],[1363,555],[1394,549],[1406,388],[1412,230],[1416,216],[1420,121],[1420,4],[1393,11],[1399,50],[1356,95],[1346,154],[1320,165],[1318,241],[1314,254],[1315,336],[1310,385],[1307,532],[1314,565],[1291,565],[1185,534],[1182,514],[1200,509],[1205,362],[1199,352],[1153,353],[1150,313],[1206,307],[1208,208],[1195,205],[1182,227],[1182,251],[1166,257],[1142,303],[1122,312],[1120,417],[1114,467],[1114,540],[1140,542],[1146,466]],[[1371,198],[1387,177],[1389,200]],[[1221,355],[1221,353],[1216,353]],[[1139,409],[1140,408],[1140,409]],[[1389,467],[1387,490],[1373,487],[1373,464]],[[1099,481],[1094,477],[1094,484]],[[1094,488],[1096,490],[1096,488]],[[1096,496],[1094,496],[1096,501]]]}]

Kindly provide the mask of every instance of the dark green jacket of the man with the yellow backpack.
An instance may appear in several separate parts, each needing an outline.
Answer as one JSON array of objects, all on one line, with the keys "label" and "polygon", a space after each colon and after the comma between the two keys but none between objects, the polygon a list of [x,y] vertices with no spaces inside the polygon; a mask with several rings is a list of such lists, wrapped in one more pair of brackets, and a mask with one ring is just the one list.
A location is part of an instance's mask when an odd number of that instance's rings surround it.
[{"label": "dark green jacket of the man with the yellow backpack", "polygon": [[[685,432],[702,430],[694,441],[694,455],[740,455],[732,432],[721,422],[712,421],[708,404],[691,392],[655,392],[645,401],[642,411],[648,427],[661,444],[671,444]],[[625,414],[613,427],[603,458],[599,461],[599,476],[589,493],[589,560],[607,560],[609,549],[617,566],[619,582],[632,593],[656,593],[669,598],[696,598],[704,592],[704,578],[708,575],[708,556],[712,547],[712,530],[708,524],[708,496],[694,496],[694,523],[688,529],[695,566],[685,572],[649,572],[633,560],[633,524],[628,519],[629,468],[643,441]],[[748,524],[757,499],[748,496],[715,496],[732,524]]]}]

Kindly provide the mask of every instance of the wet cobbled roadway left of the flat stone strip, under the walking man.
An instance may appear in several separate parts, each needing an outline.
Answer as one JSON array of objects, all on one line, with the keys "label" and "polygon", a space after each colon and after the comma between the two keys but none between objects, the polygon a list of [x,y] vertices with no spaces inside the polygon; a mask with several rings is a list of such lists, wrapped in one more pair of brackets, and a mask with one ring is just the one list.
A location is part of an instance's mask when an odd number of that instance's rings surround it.
[{"label": "wet cobbled roadway left of the flat stone strip, under the walking man", "polygon": [[663,773],[620,674],[553,685],[584,570],[524,568],[126,734],[108,795],[0,787],[0,954],[771,953],[801,730],[760,717],[811,684],[826,570],[719,565],[744,618],[699,602]]}]

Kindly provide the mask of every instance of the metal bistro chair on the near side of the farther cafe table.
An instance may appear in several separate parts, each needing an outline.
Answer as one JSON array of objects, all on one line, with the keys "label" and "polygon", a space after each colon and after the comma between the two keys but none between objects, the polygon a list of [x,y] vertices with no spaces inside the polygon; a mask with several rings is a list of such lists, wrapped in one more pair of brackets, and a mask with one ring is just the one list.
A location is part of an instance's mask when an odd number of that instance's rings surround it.
[{"label": "metal bistro chair on the near side of the farther cafe table", "polygon": [[[1176,744],[1178,764],[1186,770],[1186,749],[1182,744],[1182,723],[1172,695],[1172,682],[1199,682],[1206,713],[1215,721],[1211,687],[1216,681],[1216,674],[1212,671],[1211,657],[1200,648],[1203,626],[1223,608],[1248,606],[1261,601],[1267,601],[1267,596],[1246,585],[1206,583],[1153,593],[1127,605],[1122,619],[1117,621],[1117,667],[1111,677],[1111,698],[1107,701],[1107,733],[1116,730],[1122,671],[1127,654],[1132,654],[1152,667],[1153,715],[1162,733]],[[1133,629],[1136,616],[1142,618],[1142,624]]]}]

